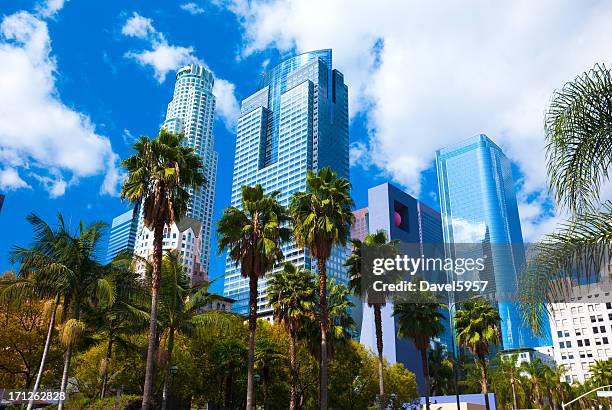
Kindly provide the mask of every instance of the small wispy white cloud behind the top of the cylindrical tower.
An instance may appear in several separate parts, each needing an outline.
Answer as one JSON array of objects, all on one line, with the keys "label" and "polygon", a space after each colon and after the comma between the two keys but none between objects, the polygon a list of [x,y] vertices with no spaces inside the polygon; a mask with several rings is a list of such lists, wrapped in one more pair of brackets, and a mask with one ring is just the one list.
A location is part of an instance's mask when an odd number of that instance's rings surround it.
[{"label": "small wispy white cloud behind the top of the cylindrical tower", "polygon": [[[151,19],[143,17],[138,13],[134,13],[125,22],[121,32],[126,36],[145,39],[148,42],[150,49],[129,51],[125,56],[142,66],[152,67],[155,79],[160,84],[166,80],[169,72],[175,71],[186,64],[206,66],[206,63],[195,56],[193,47],[170,44],[166,40],[164,33],[157,31],[153,27]],[[213,94],[217,100],[215,114],[223,121],[229,131],[234,130],[240,113],[235,90],[236,86],[233,83],[215,76],[213,89]]]}]

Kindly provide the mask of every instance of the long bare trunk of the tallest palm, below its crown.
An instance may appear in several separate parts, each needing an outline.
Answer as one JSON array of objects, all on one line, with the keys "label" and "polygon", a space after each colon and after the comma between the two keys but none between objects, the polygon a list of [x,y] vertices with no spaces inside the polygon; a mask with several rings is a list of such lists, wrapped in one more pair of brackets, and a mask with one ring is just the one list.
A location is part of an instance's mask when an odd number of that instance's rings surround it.
[{"label": "long bare trunk of the tallest palm, below its crown", "polygon": [[142,393],[142,410],[149,410],[151,406],[151,392],[155,376],[155,356],[157,350],[157,298],[159,293],[159,277],[162,263],[162,241],[164,223],[159,221],[153,233],[153,272],[151,274],[151,317],[149,320],[149,345],[147,347],[147,367]]}]

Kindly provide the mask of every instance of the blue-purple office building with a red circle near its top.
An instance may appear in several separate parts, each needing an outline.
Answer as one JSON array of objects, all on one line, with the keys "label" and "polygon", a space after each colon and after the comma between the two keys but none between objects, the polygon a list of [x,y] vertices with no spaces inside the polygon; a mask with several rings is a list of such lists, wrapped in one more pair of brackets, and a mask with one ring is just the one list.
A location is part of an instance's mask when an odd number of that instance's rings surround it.
[{"label": "blue-purple office building with a red circle near its top", "polygon": [[[390,240],[399,240],[404,244],[413,244],[420,248],[419,255],[427,256],[438,248],[443,253],[442,222],[440,214],[408,195],[392,184],[384,183],[368,189],[368,206],[354,212],[355,223],[351,229],[353,238],[362,240],[367,233],[384,230]],[[364,256],[365,257],[365,256]],[[411,278],[406,277],[410,281]],[[433,278],[427,278],[433,279]],[[439,280],[439,278],[438,278]],[[357,310],[357,309],[356,309]],[[361,303],[361,327],[359,341],[376,352],[376,329],[374,325],[374,309],[367,301]],[[448,317],[446,311],[442,312]],[[414,343],[397,337],[397,323],[393,316],[391,300],[385,304],[381,312],[383,329],[383,354],[390,364],[401,362],[414,372],[419,390],[424,393],[424,376],[421,359]],[[356,318],[359,319],[359,318]],[[448,346],[450,332],[447,329],[441,335],[439,342]]]}]

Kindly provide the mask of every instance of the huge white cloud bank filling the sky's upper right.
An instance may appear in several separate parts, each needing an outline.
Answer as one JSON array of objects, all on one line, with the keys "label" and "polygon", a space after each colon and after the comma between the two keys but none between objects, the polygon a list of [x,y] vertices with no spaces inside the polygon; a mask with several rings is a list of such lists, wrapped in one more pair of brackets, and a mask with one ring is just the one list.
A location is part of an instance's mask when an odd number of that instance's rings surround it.
[{"label": "huge white cloud bank filling the sky's upper right", "polygon": [[243,57],[268,47],[332,48],[351,116],[367,118],[367,145],[354,146],[353,158],[415,194],[437,149],[479,133],[518,164],[523,195],[544,192],[542,124],[553,90],[611,62],[605,1],[219,3],[243,26]]}]

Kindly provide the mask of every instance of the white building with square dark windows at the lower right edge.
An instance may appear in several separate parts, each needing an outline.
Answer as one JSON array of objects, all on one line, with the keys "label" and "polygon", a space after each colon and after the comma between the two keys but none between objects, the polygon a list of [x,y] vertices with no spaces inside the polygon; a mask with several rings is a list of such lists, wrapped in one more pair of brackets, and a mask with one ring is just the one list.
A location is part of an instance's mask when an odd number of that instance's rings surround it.
[{"label": "white building with square dark windows at the lower right edge", "polygon": [[612,357],[612,281],[573,286],[552,304],[550,327],[557,365],[568,382],[584,382],[596,360]]}]

